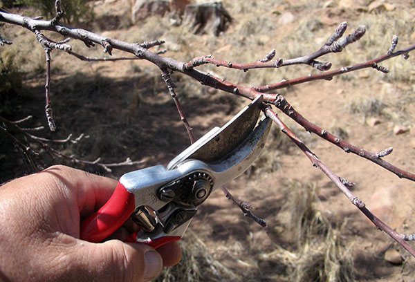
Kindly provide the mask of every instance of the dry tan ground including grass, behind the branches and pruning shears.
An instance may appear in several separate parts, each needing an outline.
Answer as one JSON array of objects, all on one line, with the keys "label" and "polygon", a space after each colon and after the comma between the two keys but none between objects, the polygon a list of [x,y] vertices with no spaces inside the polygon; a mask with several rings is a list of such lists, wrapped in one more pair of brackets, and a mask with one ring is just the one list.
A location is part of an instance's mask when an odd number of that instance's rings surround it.
[{"label": "dry tan ground including grass, behind the branches and pruning shears", "polygon": [[[333,62],[333,68],[385,53],[394,34],[400,36],[398,47],[414,43],[412,1],[395,1],[391,3],[393,9],[370,12],[371,2],[351,2],[224,1],[234,23],[227,32],[212,37],[192,35],[183,26],[170,26],[168,17],[132,25],[127,1],[95,1],[95,24],[86,28],[125,41],[164,39],[169,50],[166,55],[175,59],[212,54],[218,59],[252,62],[272,48],[283,59],[311,53],[331,36],[338,23],[348,21],[348,32],[365,24],[367,34],[358,43],[325,58]],[[293,18],[289,19],[290,15]],[[289,20],[283,21],[284,17]],[[25,80],[24,90],[17,98],[10,98],[16,103],[10,102],[12,110],[0,114],[15,119],[32,114],[34,125],[44,125],[43,51],[29,32],[10,26],[2,30],[14,45],[9,51],[9,47],[2,47],[1,55],[16,58]],[[84,50],[79,42],[71,44],[76,50]],[[101,52],[95,48],[88,55],[100,56]],[[117,55],[122,54],[114,52]],[[388,75],[364,70],[282,93],[305,118],[351,144],[369,151],[394,147],[386,160],[414,171],[413,57],[406,61],[396,57],[382,64],[391,69]],[[244,85],[317,73],[308,66],[248,73],[210,66],[204,69]],[[240,97],[208,91],[182,75],[174,75],[174,79],[197,137],[212,126],[224,124],[247,103]],[[137,167],[114,169],[113,177],[132,169],[167,164],[189,144],[159,71],[149,63],[91,64],[54,52],[52,93],[58,131],[55,135],[47,131],[42,134],[54,138],[64,138],[68,133],[89,135],[84,142],[62,150],[89,160],[101,156],[116,162],[129,156],[145,161]],[[283,114],[280,118],[329,168],[356,183],[353,193],[377,216],[399,232],[415,230],[413,182],[400,180],[375,164],[305,133]],[[371,118],[380,123],[369,125]],[[410,130],[396,135],[396,125]],[[1,142],[0,181],[5,181],[22,173],[22,163],[17,153],[9,150],[10,144]],[[83,168],[104,173],[94,167]],[[244,218],[221,191],[216,191],[200,208],[185,235],[181,265],[166,270],[164,281],[413,281],[415,259],[377,231],[275,128],[259,161],[231,182],[229,189],[254,205],[268,227]],[[403,263],[385,261],[388,248],[397,250]]]}]

